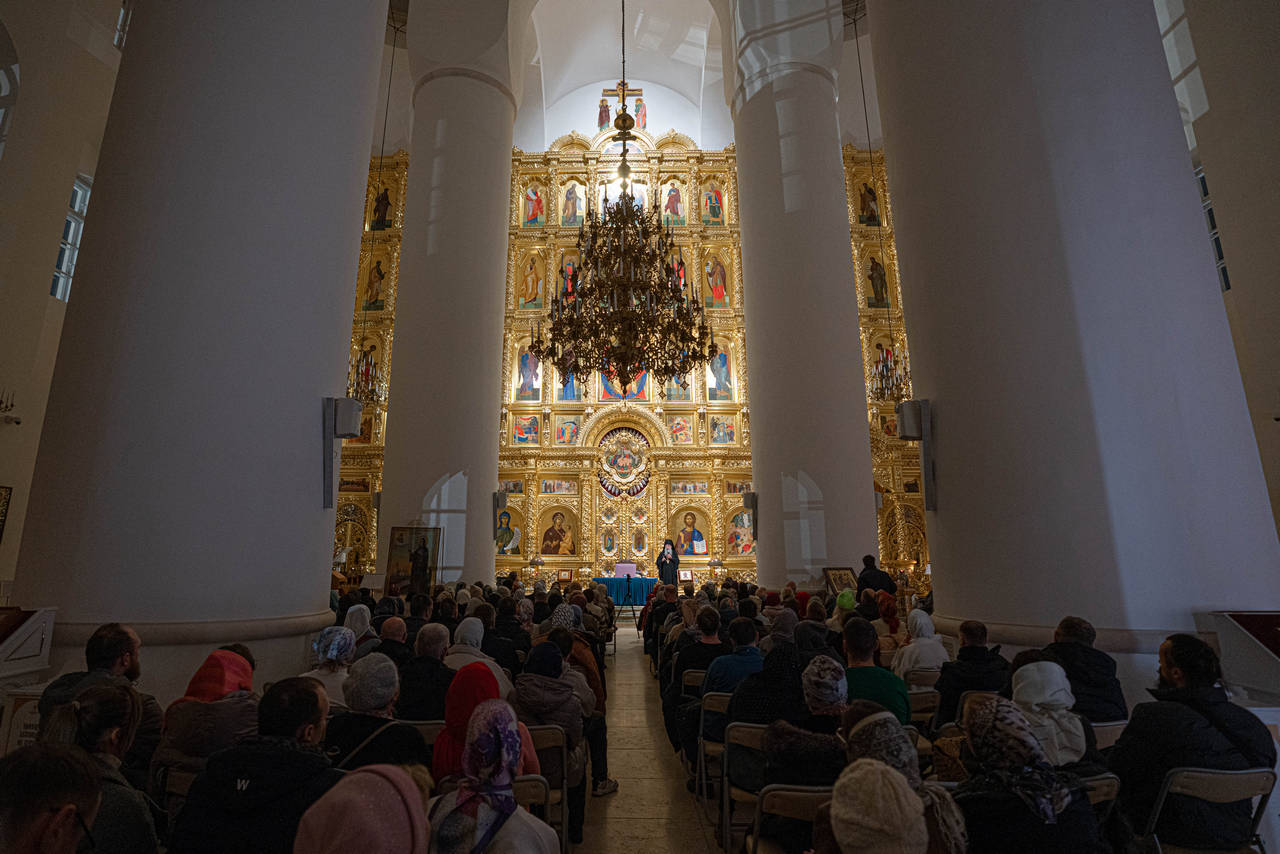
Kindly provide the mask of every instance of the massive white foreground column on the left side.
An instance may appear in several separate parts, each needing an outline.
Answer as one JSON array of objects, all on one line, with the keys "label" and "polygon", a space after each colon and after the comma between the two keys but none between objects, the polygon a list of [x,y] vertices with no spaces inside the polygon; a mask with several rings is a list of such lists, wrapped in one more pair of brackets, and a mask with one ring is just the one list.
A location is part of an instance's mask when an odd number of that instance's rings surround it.
[{"label": "massive white foreground column on the left side", "polygon": [[14,595],[58,606],[64,661],[131,622],[164,698],[230,640],[260,677],[296,673],[332,620],[321,398],[346,388],[385,15],[133,15]]}]

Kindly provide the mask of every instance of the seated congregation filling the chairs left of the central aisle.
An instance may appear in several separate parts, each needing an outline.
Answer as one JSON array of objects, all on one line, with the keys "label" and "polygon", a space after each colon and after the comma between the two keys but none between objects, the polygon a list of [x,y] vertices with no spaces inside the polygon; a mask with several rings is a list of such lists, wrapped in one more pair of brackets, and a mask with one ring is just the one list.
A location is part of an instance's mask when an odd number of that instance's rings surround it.
[{"label": "seated congregation filling the chairs left of the central aisle", "polygon": [[[603,588],[438,586],[332,600],[315,668],[253,688],[248,647],[182,698],[140,693],[142,639],[100,626],[0,759],[0,850],[530,853],[582,840],[608,776]],[[553,827],[554,825],[554,827]]]}]

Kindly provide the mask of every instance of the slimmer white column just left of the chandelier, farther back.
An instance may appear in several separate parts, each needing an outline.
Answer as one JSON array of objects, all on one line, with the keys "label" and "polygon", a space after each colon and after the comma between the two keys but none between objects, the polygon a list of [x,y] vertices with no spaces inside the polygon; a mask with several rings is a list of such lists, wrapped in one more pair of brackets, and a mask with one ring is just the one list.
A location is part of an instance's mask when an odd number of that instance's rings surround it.
[{"label": "slimmer white column just left of the chandelier, farther back", "polygon": [[468,581],[490,577],[494,567],[492,494],[520,82],[518,65],[508,64],[507,6],[415,3],[408,22],[413,138],[378,560],[385,566],[393,526],[438,526],[445,577],[461,574]]}]

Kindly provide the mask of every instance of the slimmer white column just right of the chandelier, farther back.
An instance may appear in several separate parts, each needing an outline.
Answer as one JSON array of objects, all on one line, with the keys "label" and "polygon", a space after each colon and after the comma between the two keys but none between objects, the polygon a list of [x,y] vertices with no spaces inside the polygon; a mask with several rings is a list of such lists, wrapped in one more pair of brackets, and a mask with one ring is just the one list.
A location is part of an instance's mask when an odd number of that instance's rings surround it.
[{"label": "slimmer white column just right of the chandelier, farther back", "polygon": [[737,4],[732,104],[756,567],[771,586],[878,553],[836,115],[841,14],[818,1],[785,8]]}]

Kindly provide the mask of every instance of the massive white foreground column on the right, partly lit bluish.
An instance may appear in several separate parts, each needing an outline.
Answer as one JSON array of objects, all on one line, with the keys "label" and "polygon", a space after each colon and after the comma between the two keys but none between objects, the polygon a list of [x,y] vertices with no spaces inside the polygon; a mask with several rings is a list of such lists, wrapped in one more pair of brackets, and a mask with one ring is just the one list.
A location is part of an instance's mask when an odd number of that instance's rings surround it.
[{"label": "massive white foreground column on the right, partly lit bluish", "polygon": [[[938,613],[1155,652],[1280,548],[1147,3],[874,0]],[[1149,676],[1149,672],[1146,673]]]}]

